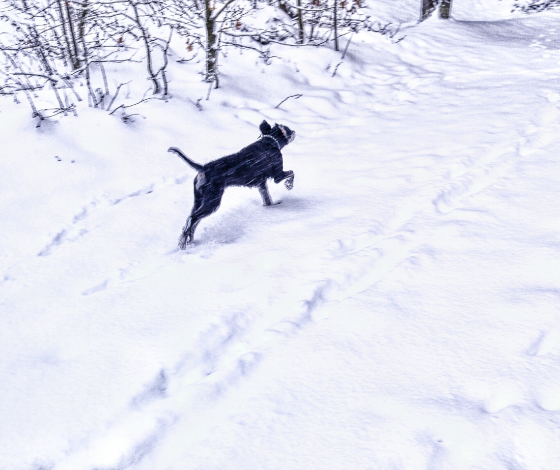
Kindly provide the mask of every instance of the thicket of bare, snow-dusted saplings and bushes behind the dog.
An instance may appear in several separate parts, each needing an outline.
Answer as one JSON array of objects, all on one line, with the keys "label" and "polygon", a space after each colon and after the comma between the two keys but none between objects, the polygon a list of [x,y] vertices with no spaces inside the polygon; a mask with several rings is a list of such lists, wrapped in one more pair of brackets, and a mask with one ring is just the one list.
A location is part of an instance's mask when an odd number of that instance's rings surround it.
[{"label": "thicket of bare, snow-dusted saplings and bushes behind the dog", "polygon": [[[339,50],[339,38],[360,29],[392,39],[398,28],[375,25],[364,1],[0,0],[0,95],[18,101],[23,93],[39,122],[76,114],[75,103],[82,100],[77,83],[86,85],[90,106],[110,114],[166,97],[173,37],[174,44],[182,39],[189,53],[194,50],[194,57],[195,49],[204,51],[203,79],[217,88],[224,47],[256,51],[269,63],[274,43],[304,47],[332,41]],[[264,23],[262,8],[267,8]],[[153,96],[123,101],[123,83],[111,92],[105,66],[124,62],[145,64]]]}]

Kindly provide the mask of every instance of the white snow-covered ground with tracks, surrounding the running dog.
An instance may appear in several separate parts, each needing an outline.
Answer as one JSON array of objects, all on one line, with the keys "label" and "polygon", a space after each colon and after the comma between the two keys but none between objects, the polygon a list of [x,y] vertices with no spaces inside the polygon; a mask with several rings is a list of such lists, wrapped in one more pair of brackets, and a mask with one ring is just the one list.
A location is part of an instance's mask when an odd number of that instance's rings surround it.
[{"label": "white snow-covered ground with tracks, surrounding the running dog", "polygon": [[[3,98],[0,468],[560,468],[559,20],[230,50],[129,124]],[[294,189],[227,189],[177,251],[167,148],[262,119]]]}]

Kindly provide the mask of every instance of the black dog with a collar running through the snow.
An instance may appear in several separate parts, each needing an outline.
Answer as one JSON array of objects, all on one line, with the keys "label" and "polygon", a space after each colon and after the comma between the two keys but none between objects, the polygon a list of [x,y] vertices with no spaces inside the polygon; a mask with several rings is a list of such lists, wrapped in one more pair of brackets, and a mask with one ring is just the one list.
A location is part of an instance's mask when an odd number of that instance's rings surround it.
[{"label": "black dog with a collar running through the snow", "polygon": [[296,133],[281,124],[274,124],[271,128],[267,121],[260,123],[259,129],[262,133],[259,140],[237,153],[218,158],[206,165],[193,162],[176,147],[169,148],[168,152],[175,152],[198,171],[194,178],[193,209],[179,237],[181,250],[193,241],[200,219],[216,212],[220,207],[223,190],[227,186],[258,187],[265,206],[273,205],[267,187],[268,178],[274,178],[275,183],[286,180],[286,189],[292,189],[293,171],[283,170],[280,150],[292,142]]}]

